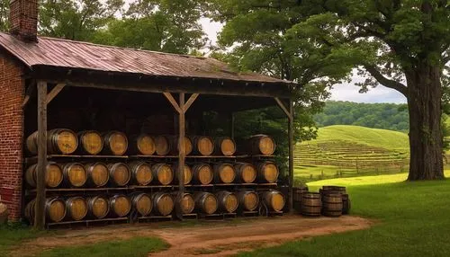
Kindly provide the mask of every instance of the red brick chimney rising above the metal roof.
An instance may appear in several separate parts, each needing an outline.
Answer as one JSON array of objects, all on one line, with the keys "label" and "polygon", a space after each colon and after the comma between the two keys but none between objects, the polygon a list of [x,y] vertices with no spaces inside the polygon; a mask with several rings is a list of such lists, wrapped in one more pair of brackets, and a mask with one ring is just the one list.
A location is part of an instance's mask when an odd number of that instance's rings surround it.
[{"label": "red brick chimney rising above the metal roof", "polygon": [[21,40],[38,41],[38,1],[11,0],[9,13],[11,34]]}]

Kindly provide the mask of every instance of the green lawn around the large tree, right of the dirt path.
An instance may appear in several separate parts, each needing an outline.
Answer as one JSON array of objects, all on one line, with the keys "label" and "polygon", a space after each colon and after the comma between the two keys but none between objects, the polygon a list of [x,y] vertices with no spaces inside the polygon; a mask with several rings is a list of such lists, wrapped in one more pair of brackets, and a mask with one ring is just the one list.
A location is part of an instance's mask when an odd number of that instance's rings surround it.
[{"label": "green lawn around the large tree, right of the dirt path", "polygon": [[374,218],[377,224],[239,256],[450,256],[450,181],[405,178],[395,174],[312,182],[312,189],[330,183],[347,186],[352,215]]}]

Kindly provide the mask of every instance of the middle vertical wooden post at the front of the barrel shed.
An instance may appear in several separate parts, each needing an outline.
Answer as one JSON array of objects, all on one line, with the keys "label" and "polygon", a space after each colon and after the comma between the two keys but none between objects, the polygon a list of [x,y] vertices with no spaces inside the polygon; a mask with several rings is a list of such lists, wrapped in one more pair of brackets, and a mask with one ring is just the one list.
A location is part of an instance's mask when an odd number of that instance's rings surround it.
[{"label": "middle vertical wooden post at the front of the barrel shed", "polygon": [[[184,93],[180,93],[180,109],[185,110],[184,105]],[[176,215],[179,219],[183,220],[183,209],[182,209],[182,201],[184,197],[184,160],[186,158],[185,152],[185,144],[184,144],[184,133],[185,133],[185,119],[184,119],[184,111],[179,113],[179,122],[178,122],[178,195],[176,200],[176,205],[178,208],[176,209]]]}]

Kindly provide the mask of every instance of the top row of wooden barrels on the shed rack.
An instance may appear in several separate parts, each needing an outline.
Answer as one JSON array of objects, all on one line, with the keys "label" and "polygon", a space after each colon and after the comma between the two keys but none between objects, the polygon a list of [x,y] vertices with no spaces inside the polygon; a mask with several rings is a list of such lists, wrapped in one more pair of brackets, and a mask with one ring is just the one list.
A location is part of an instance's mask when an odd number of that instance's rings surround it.
[{"label": "top row of wooden barrels on the shed rack", "polygon": [[[27,149],[32,155],[38,153],[37,137],[36,131],[26,139]],[[58,128],[48,131],[47,151],[53,155],[170,155],[178,153],[178,140],[178,136],[140,134],[127,137],[120,131],[100,133],[86,130],[75,133],[70,129]],[[247,154],[272,155],[275,141],[266,135],[257,135],[247,140],[243,150]],[[236,151],[236,143],[231,137],[184,137],[185,155],[231,156]]]}]

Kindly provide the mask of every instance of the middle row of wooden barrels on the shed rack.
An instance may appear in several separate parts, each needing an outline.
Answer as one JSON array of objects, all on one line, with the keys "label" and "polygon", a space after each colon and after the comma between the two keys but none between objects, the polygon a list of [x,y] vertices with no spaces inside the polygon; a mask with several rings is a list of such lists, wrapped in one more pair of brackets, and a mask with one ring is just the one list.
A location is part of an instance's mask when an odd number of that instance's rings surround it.
[{"label": "middle row of wooden barrels on the shed rack", "polygon": [[[150,184],[177,184],[175,176],[178,164],[147,163],[135,161],[129,164],[112,163],[67,163],[48,162],[46,167],[47,188],[101,188],[104,186],[124,187],[127,185],[147,186]],[[37,164],[25,172],[25,181],[36,187]],[[253,183],[276,182],[278,168],[270,161],[247,163],[197,163],[184,165],[184,184],[211,183]]]}]

